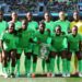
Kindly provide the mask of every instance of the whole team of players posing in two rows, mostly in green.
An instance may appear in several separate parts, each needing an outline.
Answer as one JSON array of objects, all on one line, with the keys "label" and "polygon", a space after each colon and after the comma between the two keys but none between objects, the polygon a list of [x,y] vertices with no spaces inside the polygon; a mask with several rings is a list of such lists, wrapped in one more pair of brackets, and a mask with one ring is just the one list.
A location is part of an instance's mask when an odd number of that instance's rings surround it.
[{"label": "whole team of players posing in two rows, mostly in green", "polygon": [[[20,77],[20,58],[24,50],[26,77],[35,77],[38,57],[43,58],[43,71],[45,71],[44,63],[47,66],[47,77],[55,77],[56,56],[62,59],[62,77],[70,77],[70,61],[73,51],[79,62],[79,77],[82,77],[82,23],[77,11],[73,13],[75,21],[71,23],[65,20],[63,11],[59,12],[59,20],[56,22],[50,21],[50,14],[46,12],[45,20],[39,22],[39,24],[32,20],[31,12],[26,15],[27,20],[25,19],[22,22],[17,21],[15,12],[12,13],[12,21],[9,23],[3,21],[2,16],[3,14],[0,12],[1,75],[5,78],[8,75],[14,77],[16,67],[16,77]],[[32,73],[31,57],[33,57]],[[11,71],[9,69],[10,62]],[[78,67],[75,68],[77,71]]]}]

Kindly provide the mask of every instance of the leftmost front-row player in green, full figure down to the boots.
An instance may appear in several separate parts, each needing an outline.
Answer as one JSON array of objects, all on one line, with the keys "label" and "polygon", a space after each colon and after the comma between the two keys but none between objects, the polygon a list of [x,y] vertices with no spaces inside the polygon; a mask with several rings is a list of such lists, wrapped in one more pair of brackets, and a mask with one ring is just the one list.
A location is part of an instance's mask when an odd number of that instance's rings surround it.
[{"label": "leftmost front-row player in green, full figure down to the boots", "polygon": [[16,43],[17,38],[15,36],[14,23],[10,23],[9,28],[1,34],[1,46],[3,50],[3,73],[4,78],[8,78],[8,63],[11,60],[11,77],[14,77],[15,68],[15,55],[16,55]]}]

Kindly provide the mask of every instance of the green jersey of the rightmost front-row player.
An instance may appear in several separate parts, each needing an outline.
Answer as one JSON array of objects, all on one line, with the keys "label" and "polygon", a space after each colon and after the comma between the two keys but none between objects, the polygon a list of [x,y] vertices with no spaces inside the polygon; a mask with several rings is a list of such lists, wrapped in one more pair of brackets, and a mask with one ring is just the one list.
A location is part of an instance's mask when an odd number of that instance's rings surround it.
[{"label": "green jersey of the rightmost front-row player", "polygon": [[67,39],[70,44],[70,51],[79,51],[79,43],[82,40],[82,36],[80,34],[73,36],[71,33],[68,35]]}]

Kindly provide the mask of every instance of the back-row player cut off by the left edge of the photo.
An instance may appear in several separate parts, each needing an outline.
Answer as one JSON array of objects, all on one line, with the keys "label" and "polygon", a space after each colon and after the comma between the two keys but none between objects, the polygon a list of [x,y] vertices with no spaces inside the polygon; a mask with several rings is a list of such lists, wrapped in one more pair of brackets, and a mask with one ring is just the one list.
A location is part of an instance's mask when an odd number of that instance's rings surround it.
[{"label": "back-row player cut off by the left edge of the photo", "polygon": [[[5,31],[8,27],[8,23],[3,20],[3,12],[0,11],[0,37],[1,33]],[[0,45],[0,75],[2,74],[2,50]]]}]

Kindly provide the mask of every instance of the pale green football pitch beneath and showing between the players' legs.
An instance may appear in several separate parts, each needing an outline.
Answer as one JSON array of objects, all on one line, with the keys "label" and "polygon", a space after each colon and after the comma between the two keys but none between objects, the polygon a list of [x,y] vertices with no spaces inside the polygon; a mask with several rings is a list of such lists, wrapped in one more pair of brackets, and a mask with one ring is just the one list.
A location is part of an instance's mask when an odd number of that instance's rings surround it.
[{"label": "pale green football pitch beneath and showing between the players' legs", "polygon": [[[24,69],[24,55],[21,57],[21,78],[7,78],[4,79],[3,77],[0,77],[0,82],[82,82],[82,78],[61,78],[61,77],[56,77],[56,78],[46,78],[46,77],[36,77],[36,78],[26,78],[24,75],[25,69]],[[36,72],[37,74],[42,73],[42,60],[38,59],[37,61],[37,68]],[[61,65],[60,65],[61,66]],[[57,69],[56,69],[57,71]]]}]

